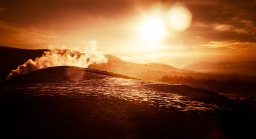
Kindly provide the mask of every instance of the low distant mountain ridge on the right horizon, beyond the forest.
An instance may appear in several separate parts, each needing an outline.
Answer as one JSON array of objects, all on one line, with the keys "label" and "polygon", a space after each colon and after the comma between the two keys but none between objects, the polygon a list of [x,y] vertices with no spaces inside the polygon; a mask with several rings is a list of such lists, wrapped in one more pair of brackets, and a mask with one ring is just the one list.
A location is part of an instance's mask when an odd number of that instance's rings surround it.
[{"label": "low distant mountain ridge on the right horizon, beyond the forest", "polygon": [[187,65],[183,69],[198,72],[217,72],[222,74],[256,75],[256,61],[204,62]]}]

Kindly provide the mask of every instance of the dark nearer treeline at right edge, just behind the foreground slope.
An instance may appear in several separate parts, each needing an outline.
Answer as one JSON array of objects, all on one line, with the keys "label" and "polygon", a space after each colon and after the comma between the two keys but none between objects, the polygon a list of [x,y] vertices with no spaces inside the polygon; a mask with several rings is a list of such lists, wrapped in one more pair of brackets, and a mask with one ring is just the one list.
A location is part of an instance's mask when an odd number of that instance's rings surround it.
[{"label": "dark nearer treeline at right edge, just behind the foreground slope", "polygon": [[[214,76],[214,74],[212,74],[211,76]],[[218,76],[219,75],[217,75],[217,78]],[[230,77],[225,79],[225,76],[223,76],[221,80],[218,80],[214,78],[193,78],[193,75],[164,75],[161,77],[161,79],[159,79],[159,81],[180,83],[183,85],[189,85],[192,87],[209,90],[210,92],[215,93],[241,94],[244,96],[244,98],[248,100],[255,97],[256,77],[228,75]]]}]

